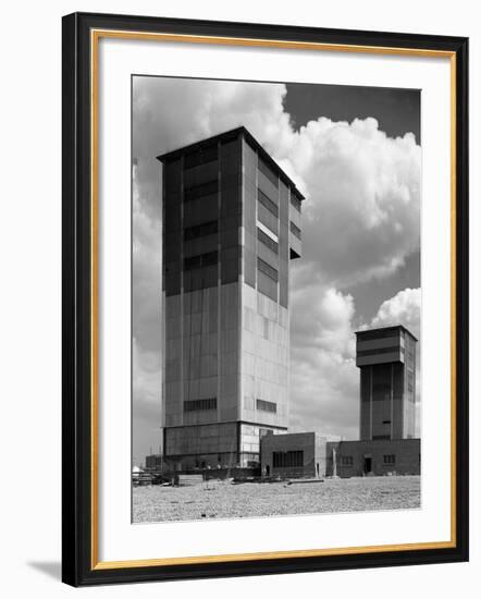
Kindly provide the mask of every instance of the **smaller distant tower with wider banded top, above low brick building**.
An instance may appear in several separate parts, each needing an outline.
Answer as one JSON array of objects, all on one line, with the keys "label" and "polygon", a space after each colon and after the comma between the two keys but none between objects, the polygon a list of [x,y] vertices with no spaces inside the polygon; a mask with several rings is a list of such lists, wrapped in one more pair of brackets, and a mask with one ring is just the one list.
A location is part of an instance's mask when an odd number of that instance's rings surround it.
[{"label": "smaller distant tower with wider banded top, above low brick building", "polygon": [[411,439],[417,339],[402,326],[358,331],[360,440]]}]

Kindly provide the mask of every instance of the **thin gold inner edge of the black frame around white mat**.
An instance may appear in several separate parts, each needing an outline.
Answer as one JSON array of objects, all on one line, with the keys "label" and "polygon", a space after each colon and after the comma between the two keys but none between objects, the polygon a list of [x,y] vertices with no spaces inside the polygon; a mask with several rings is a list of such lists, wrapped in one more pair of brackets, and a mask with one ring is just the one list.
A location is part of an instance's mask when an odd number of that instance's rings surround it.
[{"label": "thin gold inner edge of the black frame around white mat", "polygon": [[[345,547],[326,549],[307,549],[293,551],[271,551],[255,553],[233,553],[223,555],[193,555],[183,558],[160,558],[125,561],[99,561],[98,526],[98,45],[100,38],[139,39],[148,41],[213,44],[223,46],[271,47],[293,50],[318,50],[331,52],[354,52],[394,54],[407,57],[448,58],[451,69],[451,539],[446,541],[380,545],[366,547]],[[258,38],[238,38],[224,36],[198,36],[183,34],[162,34],[149,32],[126,32],[121,29],[90,29],[90,208],[91,208],[91,527],[90,551],[91,570],[115,570],[127,567],[149,567],[162,565],[207,564],[249,560],[273,560],[287,558],[308,558],[326,555],[351,555],[362,553],[412,551],[429,549],[448,549],[456,547],[456,53],[448,50],[429,50],[422,48],[396,48],[382,46],[358,46],[343,44],[322,44]]]}]

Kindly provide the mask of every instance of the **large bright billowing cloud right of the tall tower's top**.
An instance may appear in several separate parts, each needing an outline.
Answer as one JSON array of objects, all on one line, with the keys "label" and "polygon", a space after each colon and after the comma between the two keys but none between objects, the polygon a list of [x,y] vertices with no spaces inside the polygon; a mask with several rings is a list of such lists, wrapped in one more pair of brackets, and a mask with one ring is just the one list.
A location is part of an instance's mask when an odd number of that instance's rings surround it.
[{"label": "large bright billowing cloud right of the tall tower's top", "polygon": [[384,277],[419,248],[420,147],[375,119],[301,127],[291,161],[310,201],[303,223],[312,270],[338,286]]}]

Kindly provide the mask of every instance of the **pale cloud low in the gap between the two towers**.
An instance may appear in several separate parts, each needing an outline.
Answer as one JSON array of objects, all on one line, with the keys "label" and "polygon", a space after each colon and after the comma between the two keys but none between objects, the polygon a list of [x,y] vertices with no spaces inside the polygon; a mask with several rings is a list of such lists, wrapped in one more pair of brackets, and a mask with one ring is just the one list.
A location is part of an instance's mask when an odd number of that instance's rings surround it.
[{"label": "pale cloud low in the gap between the two towers", "polygon": [[351,295],[312,285],[292,297],[289,429],[355,439],[358,370]]}]

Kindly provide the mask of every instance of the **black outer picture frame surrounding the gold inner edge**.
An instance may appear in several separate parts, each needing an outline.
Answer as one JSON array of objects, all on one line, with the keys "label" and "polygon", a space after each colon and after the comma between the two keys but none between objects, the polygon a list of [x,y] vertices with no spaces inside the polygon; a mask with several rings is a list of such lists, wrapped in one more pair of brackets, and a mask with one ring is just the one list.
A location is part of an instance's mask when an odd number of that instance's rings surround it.
[{"label": "black outer picture frame surrounding the gold inner edge", "polygon": [[[468,560],[468,39],[433,35],[324,29],[74,13],[62,23],[62,579],[73,586],[248,576],[309,571],[459,562]],[[378,49],[444,51],[456,69],[455,244],[455,542],[445,548],[231,560],[212,563],[97,567],[92,523],[91,334],[91,32],[115,29],[222,36]],[[95,229],[94,229],[95,230]]]}]

